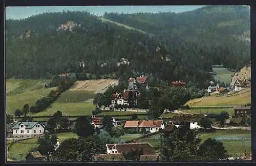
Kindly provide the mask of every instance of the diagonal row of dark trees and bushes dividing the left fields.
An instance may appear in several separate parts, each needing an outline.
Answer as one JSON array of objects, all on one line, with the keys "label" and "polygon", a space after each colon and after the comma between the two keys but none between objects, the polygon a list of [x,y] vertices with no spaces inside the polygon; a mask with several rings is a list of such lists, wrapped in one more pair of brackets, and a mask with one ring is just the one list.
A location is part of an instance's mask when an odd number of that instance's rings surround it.
[{"label": "diagonal row of dark trees and bushes dividing the left fields", "polygon": [[16,109],[14,115],[15,116],[24,115],[24,117],[26,117],[29,112],[32,114],[35,114],[45,110],[55,100],[57,100],[57,98],[61,93],[65,92],[70,87],[72,87],[75,81],[76,79],[63,78],[62,80],[59,81],[59,84],[56,90],[51,90],[47,96],[42,97],[41,99],[38,99],[35,105],[32,105],[31,107],[29,107],[29,104],[25,104],[22,110]]}]

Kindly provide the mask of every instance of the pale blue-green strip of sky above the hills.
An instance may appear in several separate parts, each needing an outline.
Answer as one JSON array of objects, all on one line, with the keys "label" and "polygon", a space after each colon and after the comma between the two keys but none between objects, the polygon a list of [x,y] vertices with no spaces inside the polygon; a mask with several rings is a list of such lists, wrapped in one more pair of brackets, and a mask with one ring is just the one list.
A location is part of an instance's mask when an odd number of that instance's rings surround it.
[{"label": "pale blue-green strip of sky above the hills", "polygon": [[105,12],[138,13],[138,12],[174,12],[180,13],[191,11],[204,6],[45,6],[45,7],[7,7],[6,19],[23,19],[45,12],[88,11],[92,14],[102,16]]}]

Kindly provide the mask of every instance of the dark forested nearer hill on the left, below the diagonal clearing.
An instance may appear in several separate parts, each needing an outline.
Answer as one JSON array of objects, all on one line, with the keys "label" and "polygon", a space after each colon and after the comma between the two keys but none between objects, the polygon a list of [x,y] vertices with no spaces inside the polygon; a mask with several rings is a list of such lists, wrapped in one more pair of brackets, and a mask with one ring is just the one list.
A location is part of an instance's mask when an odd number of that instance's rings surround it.
[{"label": "dark forested nearer hill on the left, below the diagonal clearing", "polygon": [[[72,32],[57,31],[67,21],[81,26]],[[153,86],[190,80],[196,87],[205,88],[207,80],[212,79],[209,66],[217,63],[206,53],[209,48],[174,40],[167,51],[148,35],[102,22],[87,12],[44,13],[7,20],[6,29],[7,78],[45,78],[60,73],[79,73],[79,77],[89,73],[87,79],[119,78],[138,72],[150,76]],[[20,39],[28,30],[30,36]],[[121,58],[129,65],[118,66]],[[84,61],[81,71],[80,61]]]}]

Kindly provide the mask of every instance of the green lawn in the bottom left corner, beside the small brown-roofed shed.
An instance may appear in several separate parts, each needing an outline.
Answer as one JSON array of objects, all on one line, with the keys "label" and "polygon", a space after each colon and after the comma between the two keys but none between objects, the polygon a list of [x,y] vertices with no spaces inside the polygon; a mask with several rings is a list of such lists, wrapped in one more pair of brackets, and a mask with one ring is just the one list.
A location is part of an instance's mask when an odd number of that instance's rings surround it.
[{"label": "green lawn in the bottom left corner, beside the small brown-roofed shed", "polygon": [[37,143],[37,139],[15,142],[9,147],[8,158],[12,160],[25,160],[28,152],[37,148],[38,146],[39,144]]}]

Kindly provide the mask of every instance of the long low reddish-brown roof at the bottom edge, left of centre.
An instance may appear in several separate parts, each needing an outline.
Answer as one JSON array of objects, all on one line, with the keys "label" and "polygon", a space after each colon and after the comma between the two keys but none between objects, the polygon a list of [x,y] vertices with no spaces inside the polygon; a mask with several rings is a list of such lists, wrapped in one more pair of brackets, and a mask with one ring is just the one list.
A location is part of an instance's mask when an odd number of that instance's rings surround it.
[{"label": "long low reddish-brown roof at the bottom edge, left of centre", "polygon": [[93,155],[94,161],[125,161],[123,153],[113,154],[95,154]]}]

